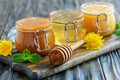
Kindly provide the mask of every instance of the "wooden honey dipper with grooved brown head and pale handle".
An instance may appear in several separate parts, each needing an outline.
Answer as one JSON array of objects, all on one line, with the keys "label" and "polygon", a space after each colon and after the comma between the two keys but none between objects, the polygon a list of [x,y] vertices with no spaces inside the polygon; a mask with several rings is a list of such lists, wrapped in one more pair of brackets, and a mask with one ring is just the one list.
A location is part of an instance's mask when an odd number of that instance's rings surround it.
[{"label": "wooden honey dipper with grooved brown head and pale handle", "polygon": [[83,43],[84,40],[80,40],[71,46],[64,44],[52,49],[49,54],[51,64],[58,66],[67,62],[71,58],[73,51],[80,47]]}]

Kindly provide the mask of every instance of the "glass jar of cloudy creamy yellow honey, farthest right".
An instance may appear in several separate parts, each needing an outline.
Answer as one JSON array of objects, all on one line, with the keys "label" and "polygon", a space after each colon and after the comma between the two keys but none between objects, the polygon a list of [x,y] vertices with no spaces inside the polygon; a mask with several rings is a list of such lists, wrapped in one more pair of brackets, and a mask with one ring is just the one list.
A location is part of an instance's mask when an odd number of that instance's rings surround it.
[{"label": "glass jar of cloudy creamy yellow honey, farthest right", "polygon": [[107,2],[90,2],[81,5],[86,31],[108,36],[115,30],[114,7]]}]

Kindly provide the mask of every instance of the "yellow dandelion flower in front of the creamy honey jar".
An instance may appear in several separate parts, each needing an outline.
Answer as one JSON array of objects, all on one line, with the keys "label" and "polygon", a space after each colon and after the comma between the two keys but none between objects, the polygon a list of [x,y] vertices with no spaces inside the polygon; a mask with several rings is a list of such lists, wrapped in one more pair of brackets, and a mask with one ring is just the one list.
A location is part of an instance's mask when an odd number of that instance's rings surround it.
[{"label": "yellow dandelion flower in front of the creamy honey jar", "polygon": [[95,34],[94,32],[88,33],[85,37],[86,49],[96,50],[103,46],[103,36]]}]

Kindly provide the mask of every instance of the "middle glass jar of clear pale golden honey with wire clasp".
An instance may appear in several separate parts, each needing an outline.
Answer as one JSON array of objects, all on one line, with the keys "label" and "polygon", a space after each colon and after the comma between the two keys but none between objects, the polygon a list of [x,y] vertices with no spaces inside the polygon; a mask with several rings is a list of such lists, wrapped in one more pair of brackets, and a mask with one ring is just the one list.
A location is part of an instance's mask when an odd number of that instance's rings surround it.
[{"label": "middle glass jar of clear pale golden honey with wire clasp", "polygon": [[86,34],[83,27],[83,13],[79,10],[57,10],[50,14],[53,31],[55,33],[55,43],[57,45],[66,42],[75,42]]}]

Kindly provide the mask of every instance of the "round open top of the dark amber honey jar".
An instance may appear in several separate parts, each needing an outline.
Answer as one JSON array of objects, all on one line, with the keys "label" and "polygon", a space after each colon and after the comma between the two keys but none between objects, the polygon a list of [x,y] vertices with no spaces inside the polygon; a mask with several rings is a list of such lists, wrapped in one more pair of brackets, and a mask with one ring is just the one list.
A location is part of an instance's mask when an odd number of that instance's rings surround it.
[{"label": "round open top of the dark amber honey jar", "polygon": [[16,22],[16,29],[21,31],[36,31],[51,27],[51,23],[47,18],[30,17],[20,19]]}]

